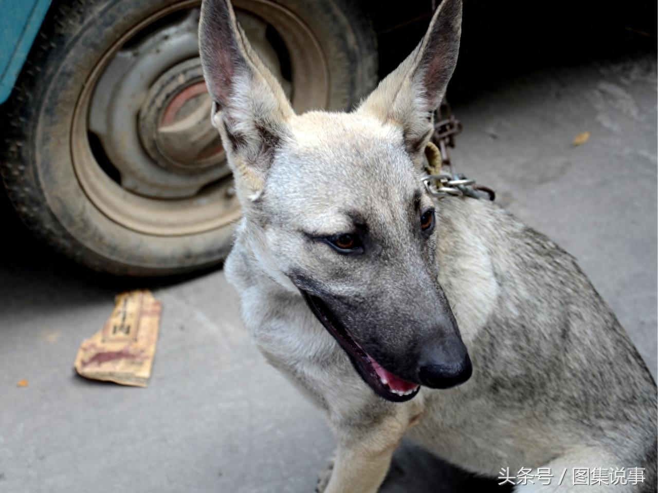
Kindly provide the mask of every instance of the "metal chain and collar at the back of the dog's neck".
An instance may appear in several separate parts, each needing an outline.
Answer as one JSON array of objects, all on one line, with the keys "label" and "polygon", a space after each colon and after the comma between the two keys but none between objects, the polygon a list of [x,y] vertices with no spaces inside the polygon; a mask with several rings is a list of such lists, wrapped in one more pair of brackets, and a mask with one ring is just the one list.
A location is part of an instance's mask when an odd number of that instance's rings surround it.
[{"label": "metal chain and collar at the back of the dog's neck", "polygon": [[[436,110],[434,133],[425,148],[427,174],[420,180],[430,195],[437,199],[451,196],[480,199],[486,194],[489,200],[494,200],[495,192],[492,189],[476,185],[474,179],[468,179],[463,174],[455,172],[450,162],[448,147],[455,147],[455,135],[459,132],[461,132],[461,122],[452,114],[447,101],[443,101]],[[449,173],[443,172],[444,167],[448,168]]]}]

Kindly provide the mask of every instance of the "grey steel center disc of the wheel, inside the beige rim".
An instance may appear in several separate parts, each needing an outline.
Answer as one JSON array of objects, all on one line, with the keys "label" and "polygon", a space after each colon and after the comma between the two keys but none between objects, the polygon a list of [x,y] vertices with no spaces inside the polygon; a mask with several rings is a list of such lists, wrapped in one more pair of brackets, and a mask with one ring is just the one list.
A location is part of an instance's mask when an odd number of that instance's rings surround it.
[{"label": "grey steel center disc of the wheel, inside the beige rim", "polygon": [[[191,9],[177,22],[118,51],[94,91],[89,129],[99,137],[109,162],[118,170],[121,187],[142,197],[194,197],[206,185],[230,174],[226,162],[197,166],[193,156],[191,165],[183,164],[191,154],[190,146],[172,154],[176,137],[163,139],[159,131],[164,116],[160,108],[167,108],[188,85],[203,80],[198,70],[198,18],[199,10]],[[198,99],[203,97],[198,95]],[[193,108],[191,103],[183,106]],[[188,116],[180,111],[173,112],[172,123]],[[212,129],[209,119],[205,125]],[[168,133],[181,135],[180,130]]]}]

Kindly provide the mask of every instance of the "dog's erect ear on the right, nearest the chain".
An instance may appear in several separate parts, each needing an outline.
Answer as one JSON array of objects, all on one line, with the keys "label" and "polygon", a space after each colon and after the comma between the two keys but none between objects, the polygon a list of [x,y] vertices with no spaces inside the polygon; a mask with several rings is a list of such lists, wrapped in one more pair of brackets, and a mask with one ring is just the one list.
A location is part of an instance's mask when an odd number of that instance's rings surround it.
[{"label": "dog's erect ear on the right, nearest the chain", "polygon": [[413,160],[432,135],[434,110],[455,70],[461,35],[461,0],[443,0],[416,49],[357,109],[403,128]]}]

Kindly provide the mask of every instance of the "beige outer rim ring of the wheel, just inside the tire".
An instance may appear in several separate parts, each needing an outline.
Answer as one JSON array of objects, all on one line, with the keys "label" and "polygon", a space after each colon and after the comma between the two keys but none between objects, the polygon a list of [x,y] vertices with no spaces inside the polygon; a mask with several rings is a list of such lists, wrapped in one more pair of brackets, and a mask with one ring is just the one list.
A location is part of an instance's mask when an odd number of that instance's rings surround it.
[{"label": "beige outer rim ring of the wheel, just inside the tire", "polygon": [[[93,90],[103,70],[135,34],[155,20],[181,9],[199,5],[198,0],[178,1],[155,12],[124,33],[97,60],[80,93],[71,128],[71,157],[76,177],[93,206],[113,222],[138,233],[158,236],[181,236],[212,231],[236,222],[240,207],[235,197],[232,177],[219,179],[204,187],[194,197],[153,199],[124,189],[101,168],[89,143],[89,106]],[[290,53],[292,66],[292,102],[298,112],[328,105],[328,65],[320,44],[306,24],[293,12],[269,0],[242,0],[236,9],[265,18],[282,38]],[[302,90],[295,90],[295,88]],[[312,87],[311,91],[303,91]]]}]

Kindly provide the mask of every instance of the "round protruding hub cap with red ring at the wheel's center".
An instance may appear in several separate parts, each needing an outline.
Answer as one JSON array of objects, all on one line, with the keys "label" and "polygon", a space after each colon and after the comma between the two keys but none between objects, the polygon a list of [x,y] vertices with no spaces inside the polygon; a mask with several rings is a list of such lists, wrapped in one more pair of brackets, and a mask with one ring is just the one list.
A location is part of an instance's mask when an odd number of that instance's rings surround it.
[{"label": "round protruding hub cap with red ring at the wheel's center", "polygon": [[139,110],[139,139],[153,161],[186,173],[219,166],[225,153],[210,124],[211,105],[200,59],[177,64],[159,77]]}]

